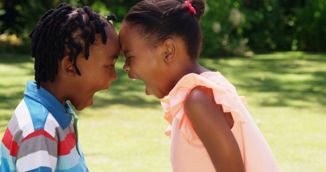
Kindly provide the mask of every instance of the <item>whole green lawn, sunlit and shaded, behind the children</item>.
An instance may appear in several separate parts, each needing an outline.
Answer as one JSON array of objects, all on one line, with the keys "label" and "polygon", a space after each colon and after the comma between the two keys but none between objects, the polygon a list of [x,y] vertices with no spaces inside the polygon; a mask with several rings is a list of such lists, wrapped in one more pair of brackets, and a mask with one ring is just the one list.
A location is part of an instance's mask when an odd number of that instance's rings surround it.
[{"label": "whole green lawn, sunlit and shaded, behind the children", "polygon": [[[220,71],[247,97],[281,171],[326,171],[325,54],[278,52],[199,62]],[[118,80],[95,94],[95,105],[77,112],[87,165],[90,171],[172,171],[159,100],[145,95],[142,81],[128,79],[122,65],[120,58]],[[33,74],[30,56],[0,54],[0,139]]]}]

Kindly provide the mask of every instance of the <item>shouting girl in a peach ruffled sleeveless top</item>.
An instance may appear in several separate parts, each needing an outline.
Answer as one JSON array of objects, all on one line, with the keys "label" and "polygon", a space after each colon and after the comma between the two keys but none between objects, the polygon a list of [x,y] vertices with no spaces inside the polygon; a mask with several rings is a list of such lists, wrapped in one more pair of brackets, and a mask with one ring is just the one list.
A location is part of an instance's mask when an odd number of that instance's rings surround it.
[{"label": "shouting girl in a peach ruffled sleeveless top", "polygon": [[173,171],[278,171],[245,97],[197,63],[204,7],[203,0],[144,0],[132,7],[120,31],[124,70],[161,99]]}]

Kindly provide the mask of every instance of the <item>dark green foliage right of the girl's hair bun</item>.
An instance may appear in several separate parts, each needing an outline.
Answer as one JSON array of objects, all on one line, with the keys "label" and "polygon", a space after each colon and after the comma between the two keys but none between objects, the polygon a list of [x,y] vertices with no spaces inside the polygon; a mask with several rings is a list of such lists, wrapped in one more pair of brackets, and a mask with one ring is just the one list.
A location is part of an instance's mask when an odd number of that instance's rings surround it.
[{"label": "dark green foliage right of the girl's hair bun", "polygon": [[326,51],[325,0],[221,0],[206,2],[204,55],[246,50]]}]

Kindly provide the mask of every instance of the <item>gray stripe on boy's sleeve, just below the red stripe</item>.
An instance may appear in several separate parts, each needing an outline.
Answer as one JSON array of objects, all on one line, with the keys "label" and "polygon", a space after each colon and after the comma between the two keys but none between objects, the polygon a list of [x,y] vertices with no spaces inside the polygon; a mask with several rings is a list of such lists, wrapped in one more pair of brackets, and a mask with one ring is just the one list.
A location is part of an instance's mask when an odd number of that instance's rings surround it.
[{"label": "gray stripe on boy's sleeve, just below the red stripe", "polygon": [[57,142],[45,137],[43,135],[35,136],[30,139],[24,140],[17,152],[17,159],[20,159],[28,154],[37,152],[37,151],[48,151],[49,155],[57,157],[58,147]]}]

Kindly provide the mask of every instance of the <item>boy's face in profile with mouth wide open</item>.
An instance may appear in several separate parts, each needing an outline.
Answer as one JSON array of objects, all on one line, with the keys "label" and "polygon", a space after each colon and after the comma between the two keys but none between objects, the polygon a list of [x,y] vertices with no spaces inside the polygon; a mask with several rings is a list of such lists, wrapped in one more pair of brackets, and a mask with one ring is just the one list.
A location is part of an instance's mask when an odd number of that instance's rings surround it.
[{"label": "boy's face in profile with mouth wide open", "polygon": [[106,29],[106,33],[106,45],[102,43],[102,36],[96,35],[96,41],[89,49],[88,60],[84,58],[84,53],[77,58],[81,76],[73,77],[75,88],[71,88],[73,94],[69,97],[77,110],[92,106],[94,94],[109,89],[111,81],[117,79],[114,64],[120,53],[119,37],[113,29]]}]

